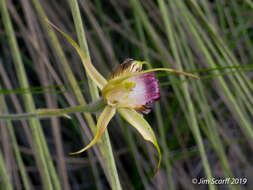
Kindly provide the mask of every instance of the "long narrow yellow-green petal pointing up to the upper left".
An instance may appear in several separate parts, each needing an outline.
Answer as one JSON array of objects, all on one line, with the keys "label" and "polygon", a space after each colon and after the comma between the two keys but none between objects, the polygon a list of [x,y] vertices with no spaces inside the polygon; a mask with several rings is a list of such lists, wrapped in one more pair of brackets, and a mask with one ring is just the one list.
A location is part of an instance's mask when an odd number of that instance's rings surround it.
[{"label": "long narrow yellow-green petal pointing up to the upper left", "polygon": [[60,32],[75,48],[79,56],[81,57],[82,63],[89,74],[90,78],[95,82],[95,84],[102,89],[106,84],[107,80],[97,71],[97,69],[90,63],[90,61],[87,59],[85,53],[81,50],[79,45],[66,33],[64,33],[61,29],[59,29],[57,26],[52,24],[49,20],[46,20],[52,27],[54,27],[58,32]]}]

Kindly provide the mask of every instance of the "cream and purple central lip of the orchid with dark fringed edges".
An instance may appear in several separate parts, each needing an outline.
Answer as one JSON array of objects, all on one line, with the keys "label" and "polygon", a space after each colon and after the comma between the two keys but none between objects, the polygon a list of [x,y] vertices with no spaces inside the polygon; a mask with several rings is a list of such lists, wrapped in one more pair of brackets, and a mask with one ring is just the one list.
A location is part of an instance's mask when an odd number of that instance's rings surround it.
[{"label": "cream and purple central lip of the orchid with dark fringed edges", "polygon": [[[115,79],[129,73],[142,71],[142,65],[133,59],[125,60],[112,74]],[[144,73],[133,76],[122,82],[121,85],[111,88],[104,98],[109,105],[129,108],[148,114],[155,101],[160,99],[158,80],[154,73]]]}]

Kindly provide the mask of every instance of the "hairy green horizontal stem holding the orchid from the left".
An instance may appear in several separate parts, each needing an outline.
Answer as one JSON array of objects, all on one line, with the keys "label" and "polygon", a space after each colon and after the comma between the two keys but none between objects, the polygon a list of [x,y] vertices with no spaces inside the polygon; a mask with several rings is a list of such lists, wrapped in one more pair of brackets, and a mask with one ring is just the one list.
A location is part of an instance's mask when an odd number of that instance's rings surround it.
[{"label": "hairy green horizontal stem holding the orchid from the left", "polygon": [[22,113],[22,114],[8,114],[0,115],[0,120],[22,120],[29,119],[31,117],[37,118],[50,118],[55,116],[65,116],[69,118],[68,114],[78,113],[78,112],[97,112],[105,107],[103,99],[99,99],[96,102],[90,103],[88,105],[74,106],[68,108],[56,108],[56,109],[37,109],[33,113]]}]

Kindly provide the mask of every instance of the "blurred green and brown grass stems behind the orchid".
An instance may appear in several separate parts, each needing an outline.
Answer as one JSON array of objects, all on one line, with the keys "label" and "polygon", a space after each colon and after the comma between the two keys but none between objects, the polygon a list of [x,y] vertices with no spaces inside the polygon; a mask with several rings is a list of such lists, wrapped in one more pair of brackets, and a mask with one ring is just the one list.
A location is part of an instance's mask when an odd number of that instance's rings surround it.
[{"label": "blurred green and brown grass stems behind the orchid", "polygon": [[119,115],[70,156],[94,134],[86,113],[1,120],[0,189],[253,189],[252,10],[252,0],[0,0],[0,114],[100,95],[46,18],[106,78],[126,58],[200,77],[156,74],[161,99],[144,116],[162,151],[154,178],[156,149]]}]

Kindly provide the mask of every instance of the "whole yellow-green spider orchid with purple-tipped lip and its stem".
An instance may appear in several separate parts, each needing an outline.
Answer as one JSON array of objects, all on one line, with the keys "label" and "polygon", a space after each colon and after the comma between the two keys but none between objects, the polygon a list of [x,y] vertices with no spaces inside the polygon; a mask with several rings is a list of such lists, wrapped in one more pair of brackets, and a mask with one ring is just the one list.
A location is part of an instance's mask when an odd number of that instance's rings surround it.
[{"label": "whole yellow-green spider orchid with purple-tipped lip and its stem", "polygon": [[[104,108],[98,118],[96,125],[96,134],[93,140],[83,149],[70,154],[80,154],[95,145],[100,140],[102,134],[108,126],[108,123],[113,118],[116,111],[118,111],[119,114],[128,123],[130,123],[142,135],[145,140],[150,141],[157,149],[159,153],[159,161],[157,168],[154,172],[155,176],[161,164],[161,151],[152,128],[142,115],[142,113],[148,114],[151,111],[154,102],[159,100],[160,98],[158,80],[155,78],[154,72],[168,71],[177,74],[183,74],[185,76],[193,77],[196,79],[199,78],[189,73],[167,68],[154,68],[143,71],[142,66],[145,62],[136,61],[133,59],[126,59],[122,64],[119,65],[115,72],[112,73],[111,77],[106,80],[90,63],[90,61],[85,56],[85,53],[80,49],[78,44],[70,36],[65,34],[50,21],[46,21],[58,32],[60,32],[75,48],[75,50],[81,57],[82,63],[88,75],[101,90],[103,99],[102,104],[98,103],[97,105],[93,106],[93,108],[96,108],[96,106],[99,108]],[[37,110],[36,113],[23,114],[20,115],[20,117],[12,117],[9,115],[0,116],[0,119],[22,119],[26,116],[43,117],[48,115],[68,116],[67,113],[71,113],[74,111],[92,111],[92,108],[89,109],[89,107],[79,106],[64,109],[40,109]]]}]

